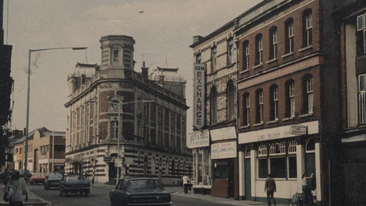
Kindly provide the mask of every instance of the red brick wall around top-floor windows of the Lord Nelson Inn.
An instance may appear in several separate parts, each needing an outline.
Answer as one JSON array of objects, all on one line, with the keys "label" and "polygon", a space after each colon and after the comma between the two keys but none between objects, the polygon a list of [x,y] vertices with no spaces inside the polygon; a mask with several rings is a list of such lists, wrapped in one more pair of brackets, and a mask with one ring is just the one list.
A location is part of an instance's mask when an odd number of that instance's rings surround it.
[{"label": "red brick wall around top-floor windows of the Lord Nelson Inn", "polygon": [[[303,32],[302,32],[302,13],[307,9],[312,10],[313,14],[313,40],[312,45],[313,48],[307,49],[305,51],[299,51],[299,49],[302,48],[302,38],[303,38]],[[257,31],[246,35],[244,37],[240,37],[239,40],[239,73],[243,70],[243,43],[244,41],[249,41],[249,71],[244,74],[239,74],[239,79],[253,75],[255,73],[259,73],[264,70],[268,70],[270,68],[279,66],[285,62],[297,59],[301,56],[306,56],[310,54],[313,51],[319,51],[320,45],[319,45],[319,3],[318,1],[314,1],[313,3],[310,3],[308,5],[305,5],[301,8],[298,8],[297,10],[292,11],[290,14],[276,20],[275,22],[262,27],[261,29],[258,29]],[[277,15],[276,15],[277,16]],[[289,18],[292,18],[294,20],[294,55],[287,56],[285,58],[282,58],[281,56],[285,54],[285,32],[287,32],[287,29],[285,29],[285,21]],[[270,21],[271,19],[268,19]],[[277,27],[277,61],[266,63],[266,61],[270,60],[269,56],[269,30],[272,26]],[[250,29],[249,32],[252,32],[253,30]],[[262,63],[263,66],[261,68],[252,69],[255,66],[255,36],[257,34],[262,34],[262,45],[263,45],[263,52],[262,52]],[[245,34],[244,34],[245,35]]]}]

